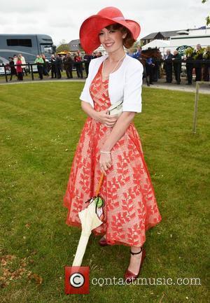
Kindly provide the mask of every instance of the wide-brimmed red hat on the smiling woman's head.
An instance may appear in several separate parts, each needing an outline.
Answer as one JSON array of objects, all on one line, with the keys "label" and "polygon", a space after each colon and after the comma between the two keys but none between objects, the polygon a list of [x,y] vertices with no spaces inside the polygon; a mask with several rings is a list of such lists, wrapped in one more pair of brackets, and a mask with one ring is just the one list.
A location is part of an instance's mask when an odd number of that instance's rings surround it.
[{"label": "wide-brimmed red hat on the smiling woman's head", "polygon": [[83,50],[87,54],[92,54],[101,45],[99,31],[115,23],[122,24],[129,29],[134,40],[137,40],[141,31],[139,23],[125,19],[123,13],[118,8],[109,6],[100,10],[97,15],[88,17],[80,26],[80,43]]}]

